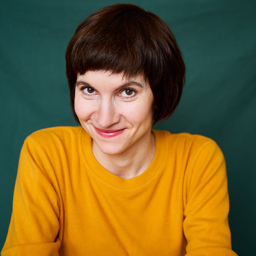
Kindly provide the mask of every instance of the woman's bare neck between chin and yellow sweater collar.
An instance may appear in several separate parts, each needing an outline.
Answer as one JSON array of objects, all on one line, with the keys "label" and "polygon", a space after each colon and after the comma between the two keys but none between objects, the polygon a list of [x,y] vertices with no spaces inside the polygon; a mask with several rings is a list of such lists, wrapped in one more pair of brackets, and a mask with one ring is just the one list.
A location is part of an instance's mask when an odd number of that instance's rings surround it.
[{"label": "woman's bare neck between chin and yellow sweater collar", "polygon": [[140,143],[140,147],[134,150],[130,146],[120,154],[105,154],[96,143],[92,142],[92,151],[95,158],[106,170],[124,179],[134,178],[142,174],[154,158],[156,151],[154,135],[150,133],[147,140]]}]

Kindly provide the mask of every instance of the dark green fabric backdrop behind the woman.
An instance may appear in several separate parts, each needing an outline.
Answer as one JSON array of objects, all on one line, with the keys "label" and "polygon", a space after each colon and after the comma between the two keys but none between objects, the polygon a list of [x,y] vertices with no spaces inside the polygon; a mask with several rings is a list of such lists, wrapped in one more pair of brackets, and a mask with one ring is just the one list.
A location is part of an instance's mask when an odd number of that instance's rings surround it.
[{"label": "dark green fabric backdrop behind the woman", "polygon": [[[88,14],[122,1],[0,1],[0,246],[12,211],[23,140],[34,130],[75,125],[65,48]],[[175,114],[156,128],[213,138],[228,168],[233,249],[254,255],[256,228],[256,1],[138,0],[164,19],[186,62]]]}]

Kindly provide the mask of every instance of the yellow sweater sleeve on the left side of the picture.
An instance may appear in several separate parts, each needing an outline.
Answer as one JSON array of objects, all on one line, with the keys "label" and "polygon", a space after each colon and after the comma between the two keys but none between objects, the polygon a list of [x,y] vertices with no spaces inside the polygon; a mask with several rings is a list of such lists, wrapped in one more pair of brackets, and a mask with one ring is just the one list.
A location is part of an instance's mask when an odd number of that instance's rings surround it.
[{"label": "yellow sweater sleeve on the left side of the picture", "polygon": [[[28,137],[15,182],[12,217],[2,256],[57,256],[60,247],[60,200],[49,160]],[[51,177],[52,175],[52,177]]]}]

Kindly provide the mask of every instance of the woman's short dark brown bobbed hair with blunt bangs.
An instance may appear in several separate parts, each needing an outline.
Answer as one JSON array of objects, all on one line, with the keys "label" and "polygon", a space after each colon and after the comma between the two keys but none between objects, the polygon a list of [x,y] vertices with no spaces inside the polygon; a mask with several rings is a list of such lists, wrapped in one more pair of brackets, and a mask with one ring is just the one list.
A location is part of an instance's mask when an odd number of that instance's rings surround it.
[{"label": "woman's short dark brown bobbed hair with blunt bangs", "polygon": [[78,74],[105,70],[133,77],[143,74],[154,95],[154,124],[175,110],[185,82],[182,54],[167,24],[133,4],[94,12],[76,29],[66,48],[66,76],[74,117]]}]

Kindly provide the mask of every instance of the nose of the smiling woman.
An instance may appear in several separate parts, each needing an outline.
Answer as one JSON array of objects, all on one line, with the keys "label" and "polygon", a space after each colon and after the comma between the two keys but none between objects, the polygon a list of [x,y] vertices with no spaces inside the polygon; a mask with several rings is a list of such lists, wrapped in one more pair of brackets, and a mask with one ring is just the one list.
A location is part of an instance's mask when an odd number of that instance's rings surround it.
[{"label": "nose of the smiling woman", "polygon": [[100,127],[106,129],[113,124],[119,122],[120,115],[112,100],[101,100],[98,105],[97,113],[95,113],[95,119]]}]

